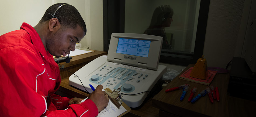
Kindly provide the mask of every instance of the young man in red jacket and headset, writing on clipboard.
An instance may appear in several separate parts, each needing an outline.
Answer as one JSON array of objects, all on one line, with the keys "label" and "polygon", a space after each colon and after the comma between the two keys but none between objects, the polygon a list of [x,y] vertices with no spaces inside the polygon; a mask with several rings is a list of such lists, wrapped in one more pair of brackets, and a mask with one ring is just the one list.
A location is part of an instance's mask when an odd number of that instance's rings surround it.
[{"label": "young man in red jacket and headset, writing on clipboard", "polygon": [[[81,103],[54,93],[60,70],[54,56],[66,56],[86,34],[73,6],[50,6],[39,23],[0,36],[0,116],[96,116],[108,105],[102,85]],[[66,109],[67,110],[63,110]]]}]

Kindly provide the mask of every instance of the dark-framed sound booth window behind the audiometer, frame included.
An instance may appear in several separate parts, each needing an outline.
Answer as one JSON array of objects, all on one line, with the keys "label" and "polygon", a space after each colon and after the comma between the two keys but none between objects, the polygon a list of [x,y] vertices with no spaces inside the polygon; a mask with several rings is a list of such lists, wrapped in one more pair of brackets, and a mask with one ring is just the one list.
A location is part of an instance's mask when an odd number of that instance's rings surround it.
[{"label": "dark-framed sound booth window behind the audiometer, frame included", "polygon": [[160,61],[187,66],[203,54],[210,0],[104,0],[104,51],[112,33],[163,37]]}]

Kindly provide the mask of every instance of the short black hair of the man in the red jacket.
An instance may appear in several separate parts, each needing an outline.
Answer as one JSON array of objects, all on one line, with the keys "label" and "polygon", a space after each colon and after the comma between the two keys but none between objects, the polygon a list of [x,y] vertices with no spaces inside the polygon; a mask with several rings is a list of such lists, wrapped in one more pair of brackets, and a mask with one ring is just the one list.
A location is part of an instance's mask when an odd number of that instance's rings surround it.
[{"label": "short black hair of the man in the red jacket", "polygon": [[[50,6],[44,13],[44,16],[42,17],[42,19],[40,20],[39,23],[43,23],[45,21],[50,20],[51,17],[49,17],[48,13],[54,14],[56,9],[60,5],[63,5],[63,4],[66,4],[66,3],[57,3],[57,4]],[[62,26],[75,29],[75,28],[77,28],[77,25],[79,25],[84,30],[84,32],[86,34],[85,22],[84,22],[82,16],[80,15],[80,13],[77,11],[77,9],[74,6],[69,5],[69,4],[61,6],[57,10],[57,12],[55,13],[54,16],[59,19],[59,22]]]}]

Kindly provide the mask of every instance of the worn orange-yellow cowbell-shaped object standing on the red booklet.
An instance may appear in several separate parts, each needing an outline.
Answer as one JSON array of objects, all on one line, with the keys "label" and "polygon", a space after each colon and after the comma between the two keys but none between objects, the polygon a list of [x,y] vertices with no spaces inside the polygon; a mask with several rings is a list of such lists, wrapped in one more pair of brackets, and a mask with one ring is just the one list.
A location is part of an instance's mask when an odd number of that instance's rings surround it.
[{"label": "worn orange-yellow cowbell-shaped object standing on the red booklet", "polygon": [[198,79],[204,79],[204,80],[207,78],[208,76],[207,62],[206,62],[206,59],[203,57],[204,55],[197,60],[189,76],[198,78]]}]

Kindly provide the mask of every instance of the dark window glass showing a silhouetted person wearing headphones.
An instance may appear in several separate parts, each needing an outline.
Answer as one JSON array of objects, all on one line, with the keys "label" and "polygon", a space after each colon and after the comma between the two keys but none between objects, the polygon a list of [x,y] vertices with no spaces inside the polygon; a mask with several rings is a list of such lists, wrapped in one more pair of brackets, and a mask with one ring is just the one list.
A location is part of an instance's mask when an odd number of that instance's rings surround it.
[{"label": "dark window glass showing a silhouetted person wearing headphones", "polygon": [[162,36],[162,53],[193,57],[199,6],[197,0],[125,1],[124,32]]}]

